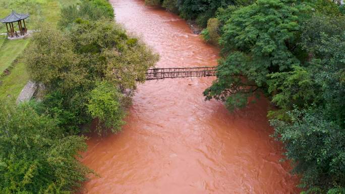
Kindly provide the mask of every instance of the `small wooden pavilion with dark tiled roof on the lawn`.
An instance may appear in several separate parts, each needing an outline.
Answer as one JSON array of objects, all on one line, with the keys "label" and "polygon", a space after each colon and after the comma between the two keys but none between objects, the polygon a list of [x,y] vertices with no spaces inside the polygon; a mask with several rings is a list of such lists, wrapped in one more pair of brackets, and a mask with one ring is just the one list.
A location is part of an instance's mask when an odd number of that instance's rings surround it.
[{"label": "small wooden pavilion with dark tiled roof on the lawn", "polygon": [[[26,25],[25,25],[25,19],[27,19],[28,17],[29,17],[29,14],[18,14],[15,11],[12,11],[12,13],[8,15],[6,18],[0,20],[0,22],[6,24],[7,36],[9,39],[21,38],[27,34],[28,29],[26,28]],[[22,25],[22,21],[23,21],[24,27]],[[15,22],[18,23],[19,31],[16,31],[13,26],[13,23]]]}]

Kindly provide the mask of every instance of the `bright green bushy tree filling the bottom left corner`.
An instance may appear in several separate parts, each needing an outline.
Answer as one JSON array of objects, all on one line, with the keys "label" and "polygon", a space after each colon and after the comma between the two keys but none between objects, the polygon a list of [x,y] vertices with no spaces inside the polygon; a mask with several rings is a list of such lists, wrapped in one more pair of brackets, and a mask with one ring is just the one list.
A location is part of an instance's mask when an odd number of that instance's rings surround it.
[{"label": "bright green bushy tree filling the bottom left corner", "polygon": [[27,104],[0,106],[0,192],[72,193],[91,172],[77,160],[85,138],[64,136],[55,120]]}]

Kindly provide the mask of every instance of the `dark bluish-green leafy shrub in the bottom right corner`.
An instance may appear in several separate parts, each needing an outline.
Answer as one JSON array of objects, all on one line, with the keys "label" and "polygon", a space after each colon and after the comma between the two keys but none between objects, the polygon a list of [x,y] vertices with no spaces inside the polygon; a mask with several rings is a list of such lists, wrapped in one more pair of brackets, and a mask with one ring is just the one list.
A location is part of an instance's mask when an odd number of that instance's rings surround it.
[{"label": "dark bluish-green leafy shrub in the bottom right corner", "polygon": [[[294,110],[291,121],[271,120],[274,137],[283,142],[294,172],[302,174],[305,193],[342,193],[345,185],[345,133],[322,110]],[[334,188],[332,188],[334,187]]]}]

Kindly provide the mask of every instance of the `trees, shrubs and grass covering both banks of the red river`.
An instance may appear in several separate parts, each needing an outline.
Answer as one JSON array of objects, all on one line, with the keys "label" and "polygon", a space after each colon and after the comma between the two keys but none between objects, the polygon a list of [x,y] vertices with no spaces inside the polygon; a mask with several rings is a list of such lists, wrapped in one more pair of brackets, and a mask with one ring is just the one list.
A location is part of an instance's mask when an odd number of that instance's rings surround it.
[{"label": "trees, shrubs and grass covering both banks of the red river", "polygon": [[[145,2],[195,21],[205,41],[221,48],[206,100],[233,111],[263,94],[276,106],[268,112],[272,136],[303,193],[345,193],[340,2]],[[0,5],[4,13],[29,12],[28,25],[39,29],[28,39],[0,39],[0,193],[73,193],[93,173],[78,160],[86,150],[83,133],[92,121],[99,136],[119,132],[137,82],[159,57],[114,22],[106,0]],[[29,79],[44,84],[42,100],[15,105]]]}]

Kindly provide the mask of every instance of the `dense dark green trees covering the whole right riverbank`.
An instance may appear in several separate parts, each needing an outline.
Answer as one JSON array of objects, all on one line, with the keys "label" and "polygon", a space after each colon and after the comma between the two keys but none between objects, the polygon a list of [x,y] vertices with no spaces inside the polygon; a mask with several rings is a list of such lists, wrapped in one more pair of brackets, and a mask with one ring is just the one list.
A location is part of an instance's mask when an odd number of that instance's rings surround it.
[{"label": "dense dark green trees covering the whole right riverbank", "polygon": [[[264,93],[268,113],[305,193],[345,193],[345,17],[340,2],[150,1],[194,19],[221,47],[205,90],[229,110]],[[254,100],[253,100],[254,101]]]}]

